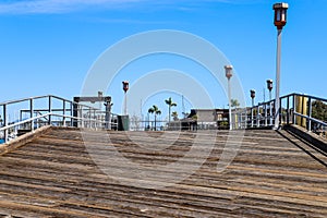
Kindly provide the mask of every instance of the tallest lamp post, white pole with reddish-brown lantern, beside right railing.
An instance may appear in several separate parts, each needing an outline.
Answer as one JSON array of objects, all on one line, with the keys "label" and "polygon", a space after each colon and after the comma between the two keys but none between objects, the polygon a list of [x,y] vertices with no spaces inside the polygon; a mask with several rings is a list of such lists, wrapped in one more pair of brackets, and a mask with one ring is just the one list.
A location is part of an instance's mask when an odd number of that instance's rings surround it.
[{"label": "tallest lamp post, white pole with reddish-brown lantern, beside right railing", "polygon": [[276,59],[276,98],[275,98],[275,130],[279,128],[280,117],[280,100],[279,100],[279,83],[280,83],[280,51],[281,51],[281,31],[287,23],[287,10],[288,3],[275,3],[272,9],[275,10],[274,24],[277,27],[277,59]]}]

